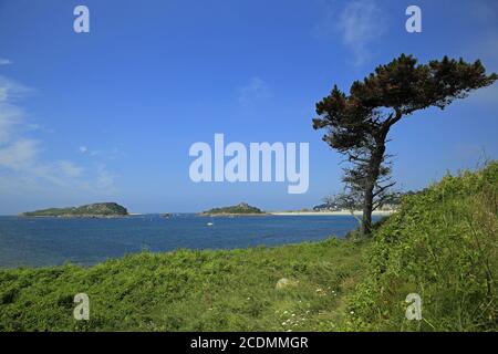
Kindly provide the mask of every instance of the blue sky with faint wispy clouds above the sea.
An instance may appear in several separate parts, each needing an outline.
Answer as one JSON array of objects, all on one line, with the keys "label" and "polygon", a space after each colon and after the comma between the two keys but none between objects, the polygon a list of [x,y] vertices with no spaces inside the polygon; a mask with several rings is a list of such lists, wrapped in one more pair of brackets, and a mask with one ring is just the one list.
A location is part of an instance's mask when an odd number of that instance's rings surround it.
[{"label": "blue sky with faint wispy clouds above the sea", "polygon": [[[90,9],[90,33],[73,10]],[[408,33],[405,10],[422,10]],[[498,72],[498,3],[381,0],[0,0],[0,215],[116,201],[132,212],[310,208],[342,190],[314,105],[401,53]],[[397,123],[403,190],[498,158],[498,84]],[[309,143],[310,184],[199,183],[196,142]]]}]

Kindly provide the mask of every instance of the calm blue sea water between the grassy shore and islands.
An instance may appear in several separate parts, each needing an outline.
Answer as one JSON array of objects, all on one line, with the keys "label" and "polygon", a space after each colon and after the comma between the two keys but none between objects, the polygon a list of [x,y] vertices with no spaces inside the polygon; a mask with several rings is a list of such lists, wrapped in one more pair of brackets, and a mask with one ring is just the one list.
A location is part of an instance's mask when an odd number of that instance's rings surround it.
[{"label": "calm blue sea water between the grassy shore and islands", "polygon": [[356,226],[350,216],[0,217],[0,267],[55,266],[65,261],[93,264],[143,249],[227,249],[314,241],[331,235],[344,237]]}]

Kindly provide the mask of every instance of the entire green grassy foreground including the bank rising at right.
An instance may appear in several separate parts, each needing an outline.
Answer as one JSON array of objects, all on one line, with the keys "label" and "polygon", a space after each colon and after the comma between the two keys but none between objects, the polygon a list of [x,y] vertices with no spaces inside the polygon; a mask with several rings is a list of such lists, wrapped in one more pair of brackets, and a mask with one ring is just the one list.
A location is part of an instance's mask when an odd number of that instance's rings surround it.
[{"label": "entire green grassy foreground including the bank rising at right", "polygon": [[497,331],[497,200],[490,163],[403,197],[369,239],[0,270],[0,331]]}]

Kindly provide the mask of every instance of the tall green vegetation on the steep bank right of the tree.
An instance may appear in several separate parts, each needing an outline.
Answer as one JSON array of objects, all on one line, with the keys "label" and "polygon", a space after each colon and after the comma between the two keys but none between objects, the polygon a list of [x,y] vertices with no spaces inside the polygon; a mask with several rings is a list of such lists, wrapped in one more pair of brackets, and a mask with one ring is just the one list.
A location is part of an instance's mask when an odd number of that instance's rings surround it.
[{"label": "tall green vegetation on the steep bank right of the tree", "polygon": [[[405,197],[376,231],[347,329],[498,330],[498,163]],[[405,320],[418,293],[423,320]]]}]

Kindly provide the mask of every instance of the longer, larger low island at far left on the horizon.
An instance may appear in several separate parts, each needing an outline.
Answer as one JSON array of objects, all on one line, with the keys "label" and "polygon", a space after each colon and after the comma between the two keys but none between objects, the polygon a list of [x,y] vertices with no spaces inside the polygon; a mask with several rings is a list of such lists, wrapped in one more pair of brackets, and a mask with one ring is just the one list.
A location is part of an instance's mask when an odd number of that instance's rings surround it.
[{"label": "longer, larger low island at far left on the horizon", "polygon": [[95,202],[81,207],[49,208],[22,212],[23,217],[112,218],[127,216],[125,207],[116,202]]}]

